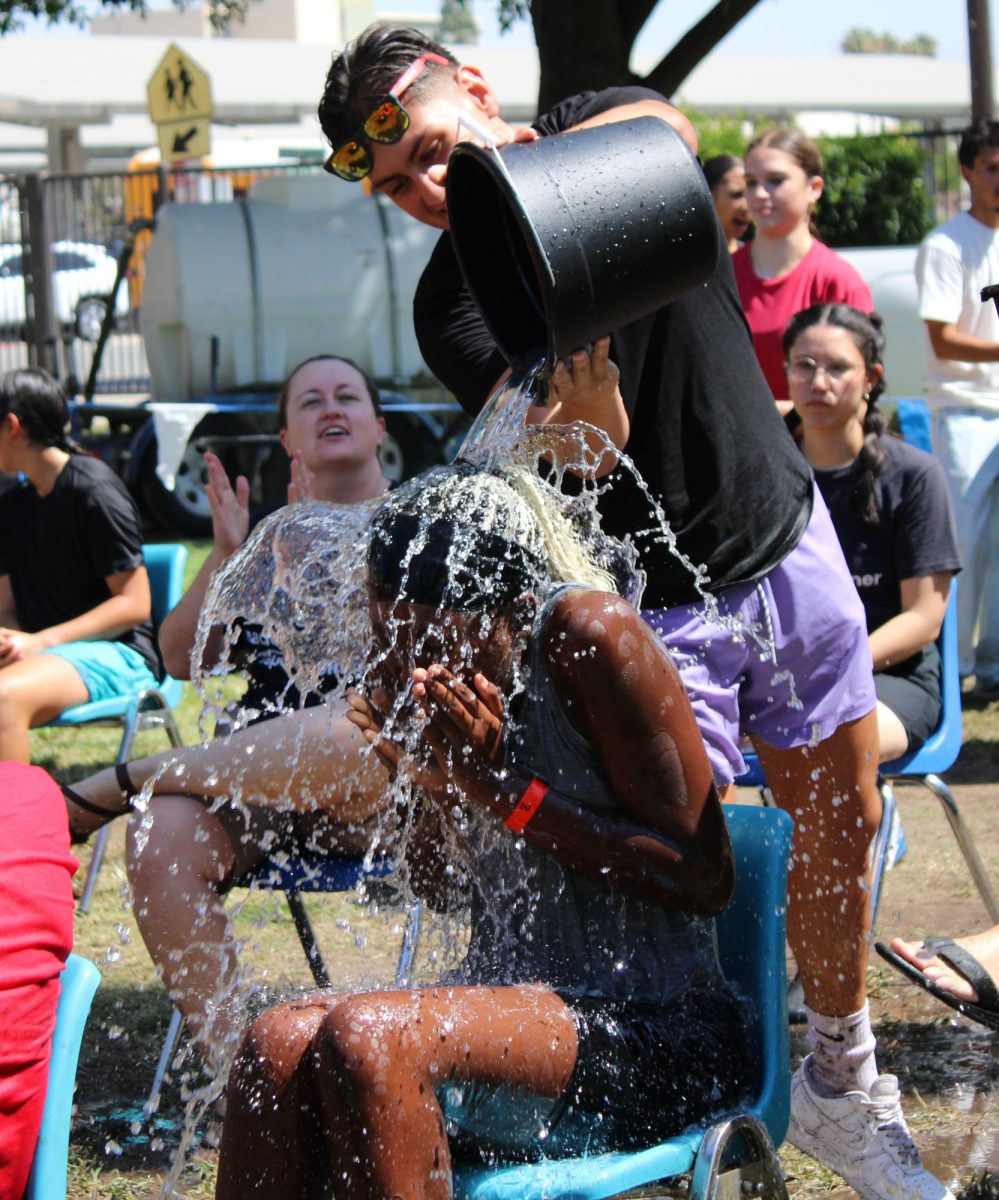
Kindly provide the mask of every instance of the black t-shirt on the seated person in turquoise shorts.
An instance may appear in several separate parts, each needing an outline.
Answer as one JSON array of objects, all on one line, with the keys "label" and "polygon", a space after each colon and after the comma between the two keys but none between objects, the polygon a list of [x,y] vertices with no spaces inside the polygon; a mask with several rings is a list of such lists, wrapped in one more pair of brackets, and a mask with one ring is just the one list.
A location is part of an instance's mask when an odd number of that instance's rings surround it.
[{"label": "black t-shirt on the seated person in turquoise shorts", "polygon": [[[0,499],[0,575],[11,577],[25,632],[96,608],[110,599],[109,575],[142,565],[138,509],[98,458],[71,455],[48,496],[25,484]],[[113,641],[131,646],[162,678],[151,620]]]}]

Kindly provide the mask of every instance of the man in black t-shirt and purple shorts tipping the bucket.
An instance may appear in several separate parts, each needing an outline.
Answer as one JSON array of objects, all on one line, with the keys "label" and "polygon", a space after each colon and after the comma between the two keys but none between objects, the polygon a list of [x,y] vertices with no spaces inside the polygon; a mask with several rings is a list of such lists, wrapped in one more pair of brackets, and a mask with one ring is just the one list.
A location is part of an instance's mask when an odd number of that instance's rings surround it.
[{"label": "man in black t-shirt and purple shorts tipping the bucket", "polygon": [[[333,148],[327,168],[366,178],[442,230],[417,289],[415,329],[427,365],[474,413],[509,364],[448,233],[444,185],[462,115],[499,146],[648,115],[692,149],[696,138],[682,113],[641,88],[582,92],[530,127],[510,126],[483,73],[415,30],[372,26],[334,56],[319,102]],[[862,881],[881,804],[863,611],[810,469],[760,373],[729,256],[705,286],[609,334],[609,344],[556,368],[550,403],[531,419],[587,420],[630,455],[680,556],[626,470],[602,488],[603,526],[638,547],[644,614],[680,667],[716,781],[725,787],[741,773],[746,730],[777,803],[796,817],[788,936],[813,1052],[794,1081],[791,1140],[866,1196],[898,1194],[884,1171],[874,1177],[877,1160],[891,1163],[911,1194],[940,1200],[950,1193],[920,1165],[897,1082],[878,1075],[866,1003]],[[696,578],[690,564],[702,568]]]}]

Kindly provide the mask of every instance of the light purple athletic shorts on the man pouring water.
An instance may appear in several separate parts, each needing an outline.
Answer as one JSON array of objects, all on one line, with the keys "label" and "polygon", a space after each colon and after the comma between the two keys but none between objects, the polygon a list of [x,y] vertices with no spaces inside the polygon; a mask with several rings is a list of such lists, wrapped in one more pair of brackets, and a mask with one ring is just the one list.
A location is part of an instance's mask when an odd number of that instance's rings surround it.
[{"label": "light purple athletic shorts on the man pouring water", "polygon": [[746,770],[741,734],[815,745],[874,708],[863,605],[818,488],[790,554],[716,600],[720,623],[704,604],[642,616],[680,671],[719,787]]}]

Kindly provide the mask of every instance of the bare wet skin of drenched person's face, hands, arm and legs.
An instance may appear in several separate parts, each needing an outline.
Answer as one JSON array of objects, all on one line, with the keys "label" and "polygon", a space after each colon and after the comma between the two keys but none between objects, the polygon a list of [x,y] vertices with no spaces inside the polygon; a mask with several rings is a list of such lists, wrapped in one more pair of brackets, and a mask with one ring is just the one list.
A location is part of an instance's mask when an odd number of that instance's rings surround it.
[{"label": "bare wet skin of drenched person's face, hands, arm and legs", "polygon": [[[448,613],[430,636],[432,610],[372,613],[376,637],[388,644],[390,631],[394,649],[371,696],[354,695],[352,719],[391,772],[413,774],[438,847],[435,821],[449,821],[453,784],[497,820],[526,784],[497,763],[533,611],[533,596],[524,596],[498,620]],[[656,636],[620,598],[572,590],[555,607],[544,649],[621,810],[588,812],[550,791],[522,836],[621,890],[717,912],[731,895],[731,847],[693,712]],[[399,698],[423,722],[426,754],[417,764],[382,734]],[[540,985],[280,1006],[255,1024],[231,1076],[216,1195],[245,1196],[253,1181],[256,1196],[305,1198],[333,1178],[352,1198],[443,1200],[450,1157],[435,1085],[484,1080],[557,1097],[575,1055],[572,1014]]]}]

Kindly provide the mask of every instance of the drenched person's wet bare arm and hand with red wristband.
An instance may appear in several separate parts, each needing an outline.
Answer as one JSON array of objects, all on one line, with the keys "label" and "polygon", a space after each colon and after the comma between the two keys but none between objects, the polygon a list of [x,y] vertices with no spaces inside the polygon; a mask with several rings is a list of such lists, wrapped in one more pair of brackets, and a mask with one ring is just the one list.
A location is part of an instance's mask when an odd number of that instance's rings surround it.
[{"label": "drenched person's wet bare arm and hand with red wristband", "polygon": [[[664,907],[719,912],[735,884],[731,845],[693,709],[658,638],[618,596],[573,590],[552,613],[545,650],[566,712],[596,748],[621,808],[593,811],[552,788],[521,836]],[[472,692],[443,668],[427,672],[433,732],[425,737],[467,798],[502,821],[528,780],[497,772],[484,755],[454,752],[462,721],[466,738],[483,744],[473,725],[487,721],[485,683],[475,677]]]}]

